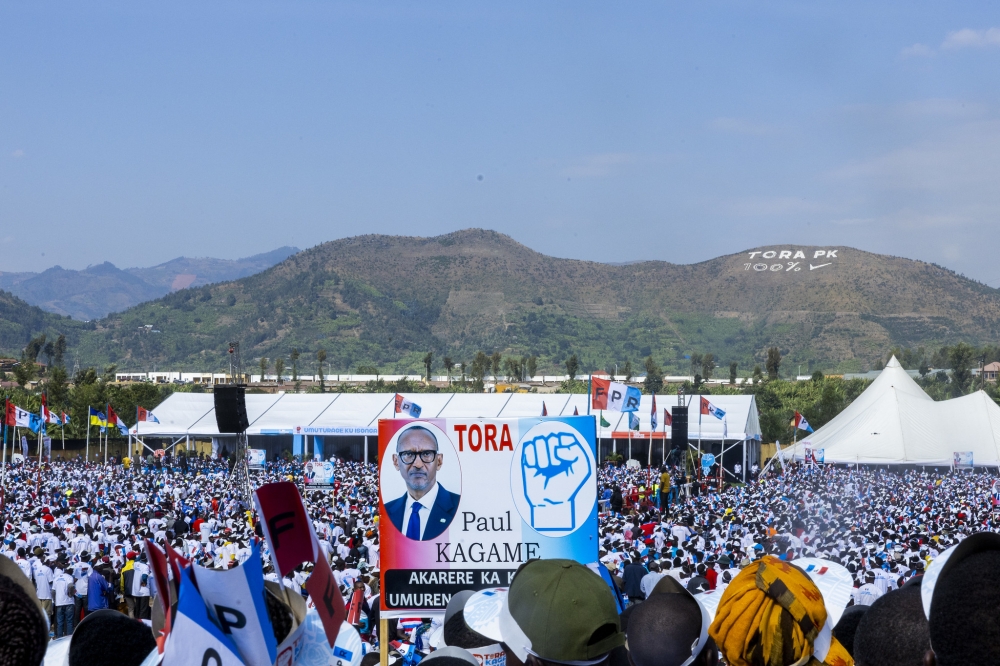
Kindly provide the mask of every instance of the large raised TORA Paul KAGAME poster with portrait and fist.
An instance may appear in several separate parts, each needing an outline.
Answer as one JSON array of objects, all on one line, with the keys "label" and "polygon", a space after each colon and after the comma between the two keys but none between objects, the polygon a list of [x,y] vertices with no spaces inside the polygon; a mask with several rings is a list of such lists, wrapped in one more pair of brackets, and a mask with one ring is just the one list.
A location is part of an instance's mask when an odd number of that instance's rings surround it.
[{"label": "large raised TORA Paul KAGAME poster with portrait and fist", "polygon": [[382,610],[444,611],[529,559],[597,559],[593,416],[379,421]]}]

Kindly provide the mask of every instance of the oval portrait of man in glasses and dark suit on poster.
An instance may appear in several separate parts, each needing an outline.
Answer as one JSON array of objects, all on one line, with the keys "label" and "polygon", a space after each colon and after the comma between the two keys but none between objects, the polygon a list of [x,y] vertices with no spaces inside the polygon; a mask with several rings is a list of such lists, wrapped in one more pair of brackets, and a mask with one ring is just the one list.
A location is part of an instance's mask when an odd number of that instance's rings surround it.
[{"label": "oval portrait of man in glasses and dark suit on poster", "polygon": [[[459,493],[451,492],[439,480],[439,472],[442,468],[447,469],[451,472],[448,476],[456,480],[454,487],[461,491],[461,476],[455,475],[458,472],[455,449],[447,439],[445,446],[440,446],[439,438],[443,436],[436,434],[435,430],[413,425],[400,431],[392,454],[393,468],[399,474],[397,478],[402,478],[406,491],[395,499],[386,500],[385,512],[396,529],[414,541],[428,541],[440,536],[451,525],[461,500]],[[450,454],[450,460],[445,460],[445,453]],[[387,469],[385,462],[382,472],[383,499],[399,492],[398,481],[393,483],[386,478],[392,475],[392,470]]]}]

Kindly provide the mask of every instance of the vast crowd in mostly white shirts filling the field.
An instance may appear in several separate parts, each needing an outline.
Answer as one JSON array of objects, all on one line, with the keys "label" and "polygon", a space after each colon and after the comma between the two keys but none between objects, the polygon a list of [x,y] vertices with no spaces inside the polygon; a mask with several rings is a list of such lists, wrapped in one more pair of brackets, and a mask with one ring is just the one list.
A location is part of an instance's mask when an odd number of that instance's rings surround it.
[{"label": "vast crowd in mostly white shirts filling the field", "polygon": [[[146,539],[201,566],[228,569],[245,562],[263,536],[247,498],[231,486],[225,461],[128,462],[54,462],[42,470],[28,462],[5,471],[0,554],[31,581],[48,638],[73,634],[88,614],[103,609],[155,624]],[[301,484],[302,470],[294,461],[269,463],[253,473],[253,482]],[[720,492],[715,484],[691,483],[678,468],[602,467],[598,562],[589,569],[561,561],[524,565],[505,593],[499,624],[477,626],[464,617],[456,604],[476,597],[463,595],[453,598],[444,620],[393,622],[387,636],[378,630],[377,479],[375,465],[339,462],[333,488],[300,487],[345,599],[357,599],[364,611],[351,618],[359,634],[373,648],[390,641],[394,655],[409,664],[423,658],[484,666],[480,648],[493,644],[512,666],[684,666],[714,664],[720,656],[734,665],[909,663],[885,658],[894,649],[919,653],[924,663],[932,637],[937,663],[966,658],[947,652],[952,649],[966,656],[980,650],[978,662],[1000,663],[1000,546],[990,536],[1000,532],[1000,515],[997,477],[989,473],[799,467]],[[969,549],[963,561],[949,560],[933,606],[921,599],[931,563],[980,533],[987,534],[973,542],[988,543]],[[265,578],[308,596],[308,567],[278,581],[264,551]],[[816,585],[795,566],[803,558],[849,572],[846,610],[824,606]],[[11,603],[4,601],[4,571],[0,617]],[[975,580],[971,591],[965,578],[955,578],[959,572]],[[592,592],[570,599],[557,580]],[[556,605],[533,610],[546,595]],[[993,605],[981,605],[987,603]],[[964,624],[931,610],[955,612],[955,604]],[[970,619],[980,612],[983,618]],[[834,616],[837,626],[824,632]],[[876,616],[887,619],[872,626],[866,618]],[[962,640],[938,639],[936,617]],[[9,636],[13,629],[0,631]],[[4,654],[0,646],[0,666],[32,663]],[[368,664],[372,658],[377,655],[366,657]]]}]

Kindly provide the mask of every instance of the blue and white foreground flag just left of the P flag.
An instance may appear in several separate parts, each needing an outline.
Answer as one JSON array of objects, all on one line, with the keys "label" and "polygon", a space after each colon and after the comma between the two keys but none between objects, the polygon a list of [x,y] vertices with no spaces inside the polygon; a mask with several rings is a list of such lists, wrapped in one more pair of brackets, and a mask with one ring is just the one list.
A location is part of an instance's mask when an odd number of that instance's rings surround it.
[{"label": "blue and white foreground flag just left of the P flag", "polygon": [[177,617],[163,650],[163,663],[244,666],[232,639],[208,616],[191,567],[181,570]]}]

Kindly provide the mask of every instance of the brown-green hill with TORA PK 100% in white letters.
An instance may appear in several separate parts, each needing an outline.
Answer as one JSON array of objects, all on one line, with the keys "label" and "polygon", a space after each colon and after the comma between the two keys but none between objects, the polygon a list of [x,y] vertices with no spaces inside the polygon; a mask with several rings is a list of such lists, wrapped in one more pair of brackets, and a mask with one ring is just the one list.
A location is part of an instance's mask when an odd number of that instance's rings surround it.
[{"label": "brown-green hill with TORA PK 100% in white letters", "polygon": [[[755,252],[753,256],[751,253]],[[765,254],[768,257],[765,257]],[[332,370],[419,371],[428,351],[536,355],[583,371],[652,354],[667,372],[715,354],[748,373],[778,346],[786,370],[867,369],[893,346],[992,344],[1000,292],[938,266],[851,248],[757,248],[692,265],[557,259],[502,234],[358,236],[233,282],[174,292],[96,322],[81,362],[226,367],[316,350]],[[436,363],[436,367],[439,365]]]}]

